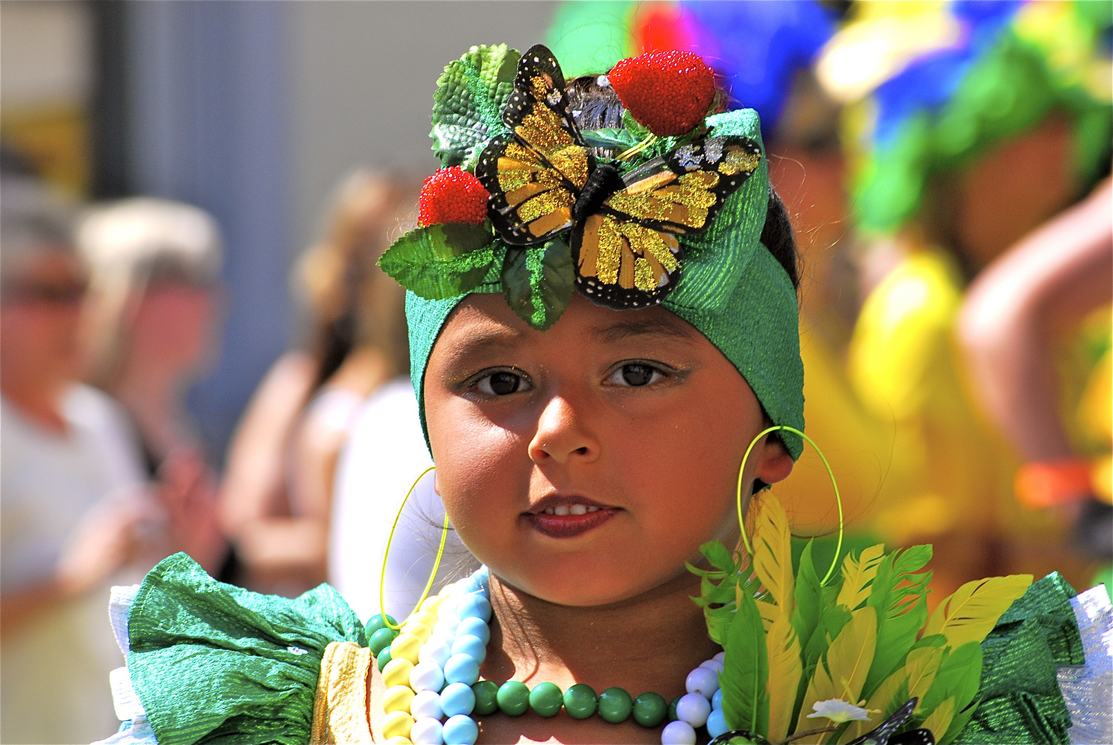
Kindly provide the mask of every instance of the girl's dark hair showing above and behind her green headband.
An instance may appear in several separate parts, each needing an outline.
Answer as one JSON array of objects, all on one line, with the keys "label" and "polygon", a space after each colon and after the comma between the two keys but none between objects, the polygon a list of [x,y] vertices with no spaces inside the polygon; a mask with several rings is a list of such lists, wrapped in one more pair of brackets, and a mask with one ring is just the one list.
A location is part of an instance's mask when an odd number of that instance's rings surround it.
[{"label": "girl's dark hair showing above and behind her green headband", "polygon": [[[622,102],[614,89],[600,86],[595,76],[573,78],[568,83],[569,108],[572,118],[580,129],[603,129],[622,126]],[[612,157],[609,150],[595,149],[597,156]],[[765,227],[761,229],[761,242],[774,258],[785,267],[792,287],[799,288],[800,272],[797,268],[796,238],[792,236],[792,224],[788,210],[772,186],[769,187],[769,202],[766,208]]]}]

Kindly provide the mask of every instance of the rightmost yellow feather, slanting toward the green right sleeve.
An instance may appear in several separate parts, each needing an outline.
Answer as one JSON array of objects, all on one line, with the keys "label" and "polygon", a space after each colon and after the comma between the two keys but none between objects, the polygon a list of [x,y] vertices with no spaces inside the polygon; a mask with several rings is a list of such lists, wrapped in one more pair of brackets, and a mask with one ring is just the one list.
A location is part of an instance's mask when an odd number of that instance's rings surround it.
[{"label": "rightmost yellow feather, slanting toward the green right sleeve", "polygon": [[968,582],[939,604],[924,627],[924,636],[943,634],[954,649],[967,642],[981,643],[993,630],[1001,614],[1024,595],[1031,584],[1030,574]]}]

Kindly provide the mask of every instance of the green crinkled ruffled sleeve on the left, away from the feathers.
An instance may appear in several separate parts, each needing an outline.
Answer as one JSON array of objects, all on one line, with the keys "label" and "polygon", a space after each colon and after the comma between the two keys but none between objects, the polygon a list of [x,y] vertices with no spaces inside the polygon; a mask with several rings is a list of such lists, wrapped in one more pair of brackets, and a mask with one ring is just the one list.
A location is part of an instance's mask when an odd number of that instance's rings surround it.
[{"label": "green crinkled ruffled sleeve on the left, away from the feathers", "polygon": [[331,642],[366,645],[327,585],[295,599],[209,577],[186,554],[144,579],[128,615],[128,670],[159,743],[307,743]]}]

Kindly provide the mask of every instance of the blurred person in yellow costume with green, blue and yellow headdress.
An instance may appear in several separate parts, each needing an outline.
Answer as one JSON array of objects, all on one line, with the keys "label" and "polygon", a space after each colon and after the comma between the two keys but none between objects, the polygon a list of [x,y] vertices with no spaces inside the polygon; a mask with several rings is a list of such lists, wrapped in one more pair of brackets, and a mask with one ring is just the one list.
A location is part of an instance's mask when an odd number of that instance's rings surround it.
[{"label": "blurred person in yellow costume with green, blue and yellow headdress", "polygon": [[[937,589],[1055,565],[1089,579],[1064,522],[1013,496],[1016,454],[963,371],[964,286],[1109,167],[1107,3],[861,2],[817,77],[844,102],[853,219],[867,245],[850,385],[896,428],[873,526],[935,543]],[[810,371],[810,370],[809,370]]]}]

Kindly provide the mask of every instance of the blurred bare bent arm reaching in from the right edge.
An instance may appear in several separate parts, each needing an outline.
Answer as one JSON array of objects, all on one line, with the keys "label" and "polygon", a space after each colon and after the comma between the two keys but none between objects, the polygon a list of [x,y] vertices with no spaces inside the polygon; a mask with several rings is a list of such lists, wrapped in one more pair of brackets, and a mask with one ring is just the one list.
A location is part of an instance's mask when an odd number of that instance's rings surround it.
[{"label": "blurred bare bent arm reaching in from the right edge", "polygon": [[986,413],[1030,461],[1072,455],[1053,339],[1113,296],[1113,183],[1025,236],[978,275],[958,331]]}]

